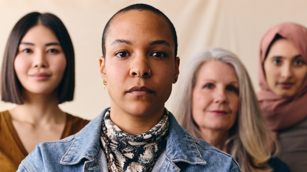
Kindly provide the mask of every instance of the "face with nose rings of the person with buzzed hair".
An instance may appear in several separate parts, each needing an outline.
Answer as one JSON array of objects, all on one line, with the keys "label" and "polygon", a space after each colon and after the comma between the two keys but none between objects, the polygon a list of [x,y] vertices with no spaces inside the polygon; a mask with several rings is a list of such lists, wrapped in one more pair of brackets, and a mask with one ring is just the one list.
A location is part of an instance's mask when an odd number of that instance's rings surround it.
[{"label": "face with nose rings of the person with buzzed hair", "polygon": [[179,58],[174,58],[175,43],[165,19],[148,10],[118,14],[105,44],[101,74],[112,109],[143,116],[164,108],[179,74]]}]

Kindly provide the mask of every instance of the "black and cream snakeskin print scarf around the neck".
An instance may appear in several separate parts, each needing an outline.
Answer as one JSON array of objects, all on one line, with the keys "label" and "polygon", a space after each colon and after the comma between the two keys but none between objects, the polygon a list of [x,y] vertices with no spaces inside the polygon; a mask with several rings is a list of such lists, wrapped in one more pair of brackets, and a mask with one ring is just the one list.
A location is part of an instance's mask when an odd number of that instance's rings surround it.
[{"label": "black and cream snakeskin print scarf around the neck", "polygon": [[[146,133],[133,135],[122,131],[111,121],[109,109],[104,116],[100,136],[106,157],[109,154],[110,159],[107,158],[107,163],[111,166],[109,171],[151,171],[157,160],[157,155],[166,145],[168,117],[169,112],[165,108],[164,116],[157,125]],[[107,137],[105,133],[107,133]]]}]

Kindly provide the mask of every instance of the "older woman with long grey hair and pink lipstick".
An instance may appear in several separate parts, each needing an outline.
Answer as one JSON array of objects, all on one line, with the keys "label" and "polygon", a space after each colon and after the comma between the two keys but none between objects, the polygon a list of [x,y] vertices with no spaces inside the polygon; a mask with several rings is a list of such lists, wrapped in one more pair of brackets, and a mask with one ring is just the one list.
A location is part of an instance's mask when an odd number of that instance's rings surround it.
[{"label": "older woman with long grey hair and pink lipstick", "polygon": [[235,54],[203,51],[182,75],[173,110],[183,128],[231,154],[244,172],[290,171],[271,157],[269,129],[247,70]]}]

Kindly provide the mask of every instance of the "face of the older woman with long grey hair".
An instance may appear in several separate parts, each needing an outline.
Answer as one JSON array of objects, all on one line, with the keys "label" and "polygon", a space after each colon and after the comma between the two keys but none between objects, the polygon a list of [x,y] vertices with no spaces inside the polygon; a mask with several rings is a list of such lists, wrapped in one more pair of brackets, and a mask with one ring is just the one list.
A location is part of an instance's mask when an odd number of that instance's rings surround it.
[{"label": "face of the older woman with long grey hair", "polygon": [[227,131],[234,125],[239,106],[235,69],[212,60],[200,67],[192,92],[192,117],[200,131]]}]

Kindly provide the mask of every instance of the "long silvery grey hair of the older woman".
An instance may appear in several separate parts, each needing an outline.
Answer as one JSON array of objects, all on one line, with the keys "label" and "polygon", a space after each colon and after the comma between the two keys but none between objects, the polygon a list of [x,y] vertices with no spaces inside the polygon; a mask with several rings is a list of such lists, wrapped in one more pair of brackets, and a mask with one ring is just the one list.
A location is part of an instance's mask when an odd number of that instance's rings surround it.
[{"label": "long silvery grey hair of the older woman", "polygon": [[239,107],[235,124],[231,127],[227,148],[243,172],[272,171],[269,129],[265,125],[251,79],[239,58],[230,51],[216,48],[206,50],[192,58],[185,66],[175,88],[173,112],[178,123],[192,136],[201,139],[200,129],[192,118],[192,92],[200,67],[216,60],[231,65],[239,79]]}]

